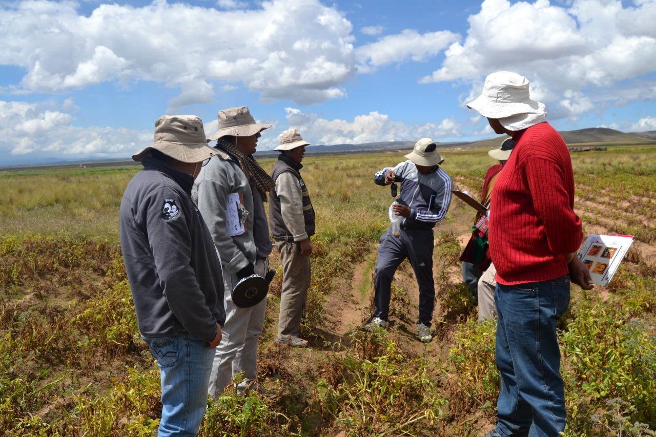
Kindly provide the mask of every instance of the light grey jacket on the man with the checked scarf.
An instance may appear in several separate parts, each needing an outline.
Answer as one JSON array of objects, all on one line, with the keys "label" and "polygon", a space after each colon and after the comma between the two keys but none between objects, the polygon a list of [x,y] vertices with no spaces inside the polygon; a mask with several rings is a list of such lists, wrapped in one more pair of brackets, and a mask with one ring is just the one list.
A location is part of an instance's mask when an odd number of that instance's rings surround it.
[{"label": "light grey jacket on the man with the checked scarf", "polygon": [[[218,149],[217,149],[218,150]],[[192,196],[207,223],[212,239],[226,270],[237,274],[248,264],[255,264],[257,249],[253,237],[253,193],[248,178],[239,163],[218,150],[218,156],[209,160],[194,181]],[[226,228],[226,201],[228,194],[241,193],[246,216],[246,232],[229,236]]]}]

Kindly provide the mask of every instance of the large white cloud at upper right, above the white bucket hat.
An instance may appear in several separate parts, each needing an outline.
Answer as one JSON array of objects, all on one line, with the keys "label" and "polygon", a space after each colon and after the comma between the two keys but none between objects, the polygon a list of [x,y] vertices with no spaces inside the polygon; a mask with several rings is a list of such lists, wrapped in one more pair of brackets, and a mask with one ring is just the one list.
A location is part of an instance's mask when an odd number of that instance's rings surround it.
[{"label": "large white cloud at upper right, above the white bucket hat", "polygon": [[656,65],[656,1],[636,0],[631,7],[621,0],[560,4],[483,1],[480,12],[468,18],[464,41],[451,44],[440,68],[421,82],[470,83],[465,103],[480,94],[482,77],[509,70],[529,78],[531,95],[547,104],[550,116],[576,119],[600,102],[625,104],[620,90],[628,86],[620,84]]}]

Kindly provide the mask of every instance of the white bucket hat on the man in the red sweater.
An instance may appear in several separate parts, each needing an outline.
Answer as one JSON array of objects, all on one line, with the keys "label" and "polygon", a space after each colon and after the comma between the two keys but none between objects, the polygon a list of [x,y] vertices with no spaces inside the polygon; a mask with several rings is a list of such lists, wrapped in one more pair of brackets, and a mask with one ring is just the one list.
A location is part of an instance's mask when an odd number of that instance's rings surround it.
[{"label": "white bucket hat on the man in the red sweater", "polygon": [[529,81],[511,72],[496,72],[485,78],[483,93],[467,108],[483,117],[504,118],[517,114],[543,114],[544,104],[531,100]]}]

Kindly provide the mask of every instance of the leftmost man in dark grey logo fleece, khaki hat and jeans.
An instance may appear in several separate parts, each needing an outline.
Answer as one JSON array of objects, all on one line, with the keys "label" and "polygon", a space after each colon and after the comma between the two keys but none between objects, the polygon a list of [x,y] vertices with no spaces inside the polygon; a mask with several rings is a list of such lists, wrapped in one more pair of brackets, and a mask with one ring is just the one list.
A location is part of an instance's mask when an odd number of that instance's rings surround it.
[{"label": "leftmost man in dark grey logo fleece, khaki hat and jeans", "polygon": [[221,263],[191,197],[207,146],[201,119],[165,115],[138,154],[119,212],[121,249],[142,338],[161,377],[159,436],[195,436],[225,322]]}]

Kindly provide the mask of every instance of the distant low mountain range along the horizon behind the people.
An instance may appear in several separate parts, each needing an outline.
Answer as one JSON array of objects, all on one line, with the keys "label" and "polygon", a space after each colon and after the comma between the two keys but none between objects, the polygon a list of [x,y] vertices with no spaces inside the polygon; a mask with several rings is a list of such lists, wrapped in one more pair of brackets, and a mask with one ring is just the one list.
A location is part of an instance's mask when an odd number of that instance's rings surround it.
[{"label": "distant low mountain range along the horizon behind the people", "polygon": [[[560,135],[564,138],[568,146],[605,146],[608,144],[651,144],[656,145],[656,131],[631,132],[624,133],[607,129],[604,127],[592,127],[590,129],[579,129],[578,131],[562,131]],[[505,137],[497,136],[487,140],[480,141],[462,141],[462,142],[436,142],[440,148],[453,148],[455,150],[469,150],[474,148],[497,148],[501,145]],[[419,139],[419,138],[417,138]],[[308,154],[336,154],[336,153],[366,153],[375,150],[384,152],[407,152],[415,146],[415,141],[381,141],[368,142],[365,144],[332,144],[331,146],[317,145],[308,146]],[[277,156],[278,152],[273,150],[261,150],[257,157]],[[61,168],[77,167],[78,165],[125,165],[132,163],[129,157],[125,159],[79,159],[76,161],[67,161],[64,159],[48,159],[41,163],[30,163],[28,161],[3,157],[0,160],[0,169],[16,169],[17,167],[39,167],[39,168]]]}]

